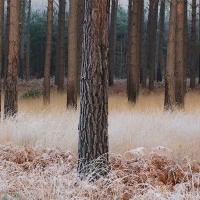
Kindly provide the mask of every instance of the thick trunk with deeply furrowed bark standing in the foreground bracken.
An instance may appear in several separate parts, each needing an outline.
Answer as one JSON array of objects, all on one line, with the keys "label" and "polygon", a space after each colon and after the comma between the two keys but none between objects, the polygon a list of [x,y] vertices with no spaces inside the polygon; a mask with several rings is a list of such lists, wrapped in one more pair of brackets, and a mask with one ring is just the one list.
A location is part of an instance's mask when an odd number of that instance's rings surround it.
[{"label": "thick trunk with deeply furrowed bark standing in the foreground bracken", "polygon": [[85,1],[78,174],[91,180],[108,173],[109,8],[109,0]]}]

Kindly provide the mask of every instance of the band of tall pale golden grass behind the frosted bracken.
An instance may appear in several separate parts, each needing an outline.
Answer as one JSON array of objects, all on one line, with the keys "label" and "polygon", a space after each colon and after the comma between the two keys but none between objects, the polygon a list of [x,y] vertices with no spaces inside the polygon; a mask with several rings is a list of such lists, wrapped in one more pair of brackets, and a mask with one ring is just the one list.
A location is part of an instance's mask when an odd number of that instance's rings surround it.
[{"label": "band of tall pale golden grass behind the frosted bracken", "polygon": [[[0,143],[12,142],[33,148],[61,147],[76,154],[79,110],[66,110],[65,100],[65,95],[53,94],[50,108],[43,108],[42,98],[20,100],[19,115],[0,125]],[[191,94],[186,110],[175,113],[163,112],[162,101],[162,95],[141,96],[139,103],[132,106],[125,96],[111,96],[110,152],[123,155],[138,147],[164,146],[171,149],[174,158],[200,159],[200,95]]]}]

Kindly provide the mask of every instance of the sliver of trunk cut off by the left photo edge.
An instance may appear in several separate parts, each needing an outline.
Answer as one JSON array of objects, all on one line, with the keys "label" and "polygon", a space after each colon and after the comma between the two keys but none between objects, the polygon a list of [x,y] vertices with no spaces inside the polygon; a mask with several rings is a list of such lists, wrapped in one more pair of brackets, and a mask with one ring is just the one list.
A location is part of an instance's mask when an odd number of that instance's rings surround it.
[{"label": "sliver of trunk cut off by the left photo edge", "polygon": [[4,25],[4,0],[0,1],[0,119],[1,119],[1,78],[2,78],[2,68],[3,68],[3,25]]}]

